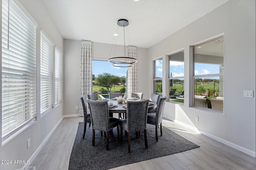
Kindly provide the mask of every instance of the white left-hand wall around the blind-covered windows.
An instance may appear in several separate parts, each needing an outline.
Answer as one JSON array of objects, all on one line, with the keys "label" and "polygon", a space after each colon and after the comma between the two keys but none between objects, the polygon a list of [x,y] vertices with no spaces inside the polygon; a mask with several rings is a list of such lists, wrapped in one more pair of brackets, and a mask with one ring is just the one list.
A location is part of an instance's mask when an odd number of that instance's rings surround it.
[{"label": "white left-hand wall around the blind-covered windows", "polygon": [[[42,1],[22,0],[22,6],[38,23],[37,28],[37,64],[40,63],[40,28],[50,37],[54,45],[63,53],[63,38],[55,23],[50,17]],[[2,12],[1,12],[2,15]],[[40,89],[40,67],[37,66],[37,89]],[[56,106],[52,111],[40,117],[40,92],[37,92],[37,120],[32,125],[24,128],[12,139],[7,139],[0,147],[0,160],[30,160],[33,154],[38,152],[40,145],[52,132],[54,127],[63,116],[63,103]],[[2,126],[0,126],[2,128]],[[27,140],[30,139],[30,148],[27,149]],[[31,162],[31,160],[30,160]],[[0,165],[1,170],[14,170],[22,168],[24,164]]]}]

